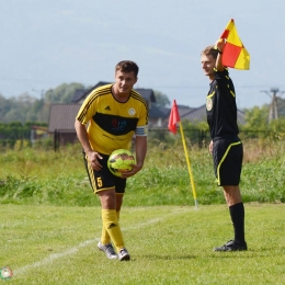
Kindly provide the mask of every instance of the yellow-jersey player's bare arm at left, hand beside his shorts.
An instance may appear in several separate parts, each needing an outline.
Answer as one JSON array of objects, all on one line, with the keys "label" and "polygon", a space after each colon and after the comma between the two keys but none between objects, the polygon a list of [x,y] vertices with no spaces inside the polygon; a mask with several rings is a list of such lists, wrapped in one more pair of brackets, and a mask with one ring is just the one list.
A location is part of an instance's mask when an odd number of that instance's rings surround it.
[{"label": "yellow-jersey player's bare arm at left, hand beside his shorts", "polygon": [[91,167],[94,170],[100,170],[102,166],[100,164],[99,159],[102,159],[102,157],[91,148],[86,125],[82,125],[78,119],[76,119],[75,128],[78,139],[88,156],[88,160]]}]

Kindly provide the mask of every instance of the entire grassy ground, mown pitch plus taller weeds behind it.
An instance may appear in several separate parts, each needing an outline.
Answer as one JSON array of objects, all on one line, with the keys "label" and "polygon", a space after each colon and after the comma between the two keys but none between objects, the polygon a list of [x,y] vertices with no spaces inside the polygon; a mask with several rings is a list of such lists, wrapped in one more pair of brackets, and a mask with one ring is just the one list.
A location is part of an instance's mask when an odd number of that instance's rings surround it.
[{"label": "entire grassy ground, mown pitch plus taller weeds behind it", "polygon": [[197,192],[181,144],[149,148],[128,180],[121,214],[130,262],[96,250],[101,210],[79,145],[59,152],[0,152],[0,267],[9,284],[285,284],[285,146],[246,141],[241,192],[247,252],[213,251],[232,238],[207,149],[189,146]]}]

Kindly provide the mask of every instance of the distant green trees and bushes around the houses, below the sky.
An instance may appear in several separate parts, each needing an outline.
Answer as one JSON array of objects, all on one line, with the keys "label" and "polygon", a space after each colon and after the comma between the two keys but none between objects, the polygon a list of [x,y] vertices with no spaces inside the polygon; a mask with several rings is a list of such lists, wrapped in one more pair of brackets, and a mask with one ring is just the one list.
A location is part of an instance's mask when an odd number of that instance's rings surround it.
[{"label": "distant green trees and bushes around the houses, below the sky", "polygon": [[[53,103],[71,103],[76,90],[86,89],[81,83],[64,83],[43,93],[42,98],[34,98],[29,93],[18,98],[4,98],[0,94],[0,140],[29,139],[31,126],[47,126],[49,109]],[[159,91],[155,91],[158,106],[170,106],[170,100]],[[274,136],[285,138],[285,100],[277,98],[278,118],[269,121],[270,105],[254,106],[242,110],[246,123],[240,126],[247,137]],[[189,130],[207,132],[206,122],[183,122],[183,127]],[[162,133],[156,133],[155,137],[163,139]]]}]

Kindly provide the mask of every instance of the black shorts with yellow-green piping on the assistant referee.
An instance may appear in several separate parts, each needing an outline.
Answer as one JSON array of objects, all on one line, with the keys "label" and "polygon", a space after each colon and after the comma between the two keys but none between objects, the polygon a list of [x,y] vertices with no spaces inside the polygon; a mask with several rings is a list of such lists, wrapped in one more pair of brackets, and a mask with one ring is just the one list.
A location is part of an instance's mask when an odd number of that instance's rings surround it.
[{"label": "black shorts with yellow-green piping on the assistant referee", "polygon": [[243,147],[239,139],[216,139],[213,141],[214,170],[218,186],[239,185]]}]

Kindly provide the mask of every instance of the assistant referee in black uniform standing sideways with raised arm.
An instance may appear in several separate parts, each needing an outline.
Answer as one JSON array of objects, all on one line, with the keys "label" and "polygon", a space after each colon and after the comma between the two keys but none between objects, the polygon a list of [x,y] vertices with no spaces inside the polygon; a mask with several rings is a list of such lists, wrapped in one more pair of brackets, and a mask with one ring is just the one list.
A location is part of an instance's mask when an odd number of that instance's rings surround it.
[{"label": "assistant referee in black uniform standing sideways with raised arm", "polygon": [[212,138],[209,152],[213,155],[217,184],[224,189],[235,230],[232,240],[214,250],[241,251],[248,249],[244,239],[244,207],[239,189],[243,147],[238,137],[235,87],[228,69],[221,64],[224,47],[225,42],[217,41],[201,55],[202,69],[210,80],[206,100]]}]

